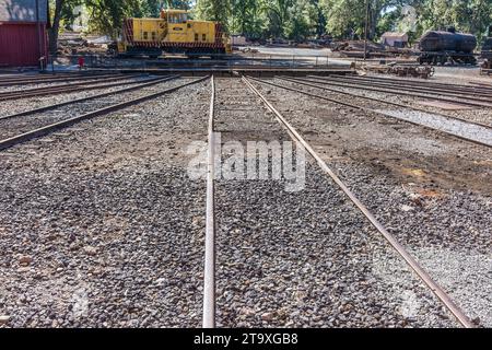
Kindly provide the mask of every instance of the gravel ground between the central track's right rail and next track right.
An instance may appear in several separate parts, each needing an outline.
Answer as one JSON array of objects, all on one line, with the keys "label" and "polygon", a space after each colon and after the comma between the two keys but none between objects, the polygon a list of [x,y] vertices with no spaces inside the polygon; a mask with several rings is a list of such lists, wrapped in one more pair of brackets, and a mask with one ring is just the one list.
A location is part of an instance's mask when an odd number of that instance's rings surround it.
[{"label": "gravel ground between the central track's right rail and next track right", "polygon": [[[348,108],[315,107],[312,97],[260,89],[272,101],[295,101],[274,105],[475,322],[490,327],[491,152],[363,112],[348,119]],[[456,182],[460,167],[469,173],[466,184]]]}]

